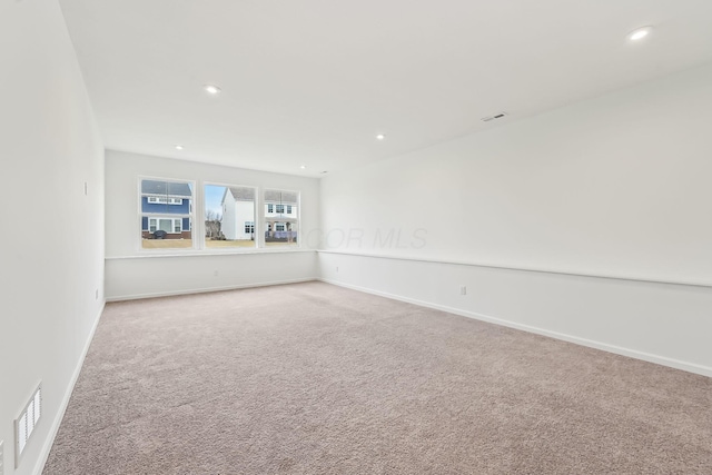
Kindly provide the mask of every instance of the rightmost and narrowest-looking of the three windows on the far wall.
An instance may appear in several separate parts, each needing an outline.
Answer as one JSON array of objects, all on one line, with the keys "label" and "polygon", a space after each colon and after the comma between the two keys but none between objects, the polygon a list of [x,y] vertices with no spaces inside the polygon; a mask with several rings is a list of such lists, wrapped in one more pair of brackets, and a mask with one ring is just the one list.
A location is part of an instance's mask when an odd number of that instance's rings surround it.
[{"label": "rightmost and narrowest-looking of the three windows on the far wall", "polygon": [[[265,246],[298,246],[299,194],[297,191],[265,190]],[[287,215],[284,216],[285,209]],[[277,212],[278,217],[268,216]]]}]

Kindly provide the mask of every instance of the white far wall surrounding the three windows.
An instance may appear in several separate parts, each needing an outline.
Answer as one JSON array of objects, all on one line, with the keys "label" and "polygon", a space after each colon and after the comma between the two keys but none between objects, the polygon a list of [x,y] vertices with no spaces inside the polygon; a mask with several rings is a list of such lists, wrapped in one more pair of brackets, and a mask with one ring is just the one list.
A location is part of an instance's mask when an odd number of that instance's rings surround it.
[{"label": "white far wall surrounding the three windows", "polygon": [[[260,194],[265,188],[300,191],[300,228],[308,232],[318,228],[317,179],[113,150],[106,152],[106,170],[107,299],[219,290],[317,277],[316,253],[306,241],[298,249],[281,250],[176,249],[164,254],[141,250],[137,192],[139,176],[195,180],[198,191],[205,182],[256,186]],[[202,234],[197,227],[202,219],[201,192],[196,198],[194,238],[201,240]]]}]

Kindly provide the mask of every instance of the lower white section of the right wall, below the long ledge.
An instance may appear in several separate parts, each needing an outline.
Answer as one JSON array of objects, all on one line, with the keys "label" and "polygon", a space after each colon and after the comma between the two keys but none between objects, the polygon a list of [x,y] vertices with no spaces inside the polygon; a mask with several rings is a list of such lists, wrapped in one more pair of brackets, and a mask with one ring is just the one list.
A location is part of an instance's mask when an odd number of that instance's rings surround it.
[{"label": "lower white section of the right wall, below the long ledge", "polygon": [[709,287],[329,251],[319,271],[357,290],[712,376]]}]

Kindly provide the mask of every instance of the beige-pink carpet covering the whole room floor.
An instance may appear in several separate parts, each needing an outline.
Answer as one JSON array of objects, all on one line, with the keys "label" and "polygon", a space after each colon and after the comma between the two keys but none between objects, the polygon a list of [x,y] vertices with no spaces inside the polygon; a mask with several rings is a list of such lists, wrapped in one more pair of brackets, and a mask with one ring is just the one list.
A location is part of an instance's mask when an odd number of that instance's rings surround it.
[{"label": "beige-pink carpet covering the whole room floor", "polygon": [[712,474],[712,378],[322,283],[110,304],[44,474]]}]

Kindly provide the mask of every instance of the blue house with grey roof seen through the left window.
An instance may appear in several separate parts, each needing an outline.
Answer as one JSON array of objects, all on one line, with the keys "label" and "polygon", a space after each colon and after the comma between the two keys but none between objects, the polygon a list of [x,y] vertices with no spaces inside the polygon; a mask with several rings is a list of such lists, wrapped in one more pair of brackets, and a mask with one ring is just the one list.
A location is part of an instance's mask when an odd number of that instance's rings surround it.
[{"label": "blue house with grey roof seen through the left window", "polygon": [[190,239],[191,200],[188,182],[141,180],[141,237]]}]

